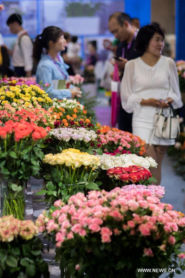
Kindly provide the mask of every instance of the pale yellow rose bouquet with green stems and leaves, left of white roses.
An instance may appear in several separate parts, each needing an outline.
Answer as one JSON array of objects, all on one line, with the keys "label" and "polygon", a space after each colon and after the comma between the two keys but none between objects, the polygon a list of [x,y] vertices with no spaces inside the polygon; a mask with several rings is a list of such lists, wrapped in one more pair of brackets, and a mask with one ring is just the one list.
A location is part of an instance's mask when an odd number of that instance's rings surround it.
[{"label": "pale yellow rose bouquet with green stems and leaves, left of white roses", "polygon": [[47,164],[43,173],[46,185],[36,195],[45,194],[48,204],[59,198],[66,202],[77,192],[99,189],[93,182],[98,175],[95,169],[100,166],[100,159],[95,155],[67,149],[60,154],[46,154],[43,163]]}]

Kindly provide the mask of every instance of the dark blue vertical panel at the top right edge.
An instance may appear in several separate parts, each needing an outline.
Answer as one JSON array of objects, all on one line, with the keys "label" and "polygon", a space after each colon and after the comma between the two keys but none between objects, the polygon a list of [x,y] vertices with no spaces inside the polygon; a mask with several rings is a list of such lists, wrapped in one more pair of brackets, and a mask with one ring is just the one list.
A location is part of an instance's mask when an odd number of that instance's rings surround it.
[{"label": "dark blue vertical panel at the top right edge", "polygon": [[185,60],[185,1],[176,0],[176,60]]}]

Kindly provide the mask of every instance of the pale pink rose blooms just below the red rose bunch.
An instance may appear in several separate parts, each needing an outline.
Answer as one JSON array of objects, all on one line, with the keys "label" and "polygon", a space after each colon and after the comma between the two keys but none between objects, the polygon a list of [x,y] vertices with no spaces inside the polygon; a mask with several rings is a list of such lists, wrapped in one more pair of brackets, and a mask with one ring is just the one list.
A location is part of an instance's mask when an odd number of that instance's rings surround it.
[{"label": "pale pink rose blooms just below the red rose bunch", "polygon": [[145,185],[142,185],[142,184],[138,184],[138,185],[129,184],[129,185],[125,185],[121,188],[122,191],[127,191],[127,192],[130,192],[132,189],[135,189],[140,192],[149,190],[152,193],[152,195],[158,197],[159,199],[161,199],[165,194],[164,186],[162,187],[160,185],[148,185],[146,187]]}]

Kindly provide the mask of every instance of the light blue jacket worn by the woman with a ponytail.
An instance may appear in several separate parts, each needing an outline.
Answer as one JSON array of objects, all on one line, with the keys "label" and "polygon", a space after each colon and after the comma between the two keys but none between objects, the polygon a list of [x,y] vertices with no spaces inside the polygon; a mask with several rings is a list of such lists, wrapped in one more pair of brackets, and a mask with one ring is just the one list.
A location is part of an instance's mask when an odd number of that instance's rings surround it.
[{"label": "light blue jacket worn by the woman with a ponytail", "polygon": [[[66,79],[69,78],[67,69],[68,65],[64,63],[64,59],[60,57],[60,61],[57,62],[62,72],[66,75]],[[52,80],[64,80],[63,74],[60,72],[55,63],[47,54],[42,54],[36,71],[36,82],[39,83],[42,80],[42,84],[50,83],[51,86],[47,89],[47,93],[51,95],[51,98],[63,99],[71,98],[71,91],[53,89]],[[73,86],[72,86],[73,87]]]}]

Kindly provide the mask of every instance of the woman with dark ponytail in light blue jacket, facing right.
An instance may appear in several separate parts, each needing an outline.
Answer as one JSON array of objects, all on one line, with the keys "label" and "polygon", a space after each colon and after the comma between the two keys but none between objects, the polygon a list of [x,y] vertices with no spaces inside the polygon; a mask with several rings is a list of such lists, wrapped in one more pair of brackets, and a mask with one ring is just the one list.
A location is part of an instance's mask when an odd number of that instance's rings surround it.
[{"label": "woman with dark ponytail in light blue jacket, facing right", "polygon": [[[68,79],[68,65],[63,58],[58,55],[65,49],[66,40],[63,31],[55,26],[45,28],[41,35],[36,36],[33,58],[38,63],[36,71],[36,82],[41,80],[43,84],[50,83],[47,92],[51,98],[63,99],[74,98],[78,94],[79,88],[71,86],[70,89],[54,89],[53,80]],[[78,95],[79,96],[79,95]]]}]

